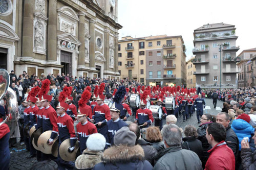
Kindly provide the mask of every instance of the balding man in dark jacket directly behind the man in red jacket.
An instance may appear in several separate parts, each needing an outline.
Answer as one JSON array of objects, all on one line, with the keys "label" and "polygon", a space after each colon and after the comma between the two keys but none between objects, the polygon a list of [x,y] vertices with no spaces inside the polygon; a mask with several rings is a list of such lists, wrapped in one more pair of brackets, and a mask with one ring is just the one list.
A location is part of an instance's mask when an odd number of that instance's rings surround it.
[{"label": "balding man in dark jacket directly behind the man in red jacket", "polygon": [[226,128],[226,140],[227,146],[233,151],[234,158],[238,159],[238,152],[239,152],[239,140],[238,136],[234,131],[231,129],[229,125],[229,115],[225,112],[220,112],[217,114],[216,122],[222,124]]}]

